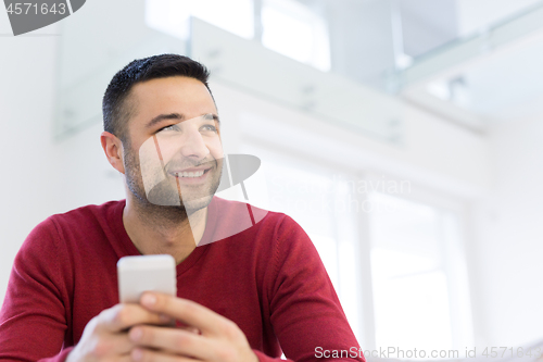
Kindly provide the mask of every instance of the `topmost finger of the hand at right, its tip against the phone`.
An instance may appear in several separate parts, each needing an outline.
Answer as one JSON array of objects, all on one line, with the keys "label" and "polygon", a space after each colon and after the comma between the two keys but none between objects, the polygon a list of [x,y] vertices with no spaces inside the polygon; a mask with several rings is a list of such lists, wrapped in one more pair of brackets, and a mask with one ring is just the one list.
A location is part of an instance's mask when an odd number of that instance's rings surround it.
[{"label": "topmost finger of the hand at right, its tip against the phone", "polygon": [[231,330],[230,320],[215,313],[197,302],[159,292],[146,292],[140,299],[143,307],[153,312],[171,315],[190,326],[199,328],[202,334],[224,334]]}]

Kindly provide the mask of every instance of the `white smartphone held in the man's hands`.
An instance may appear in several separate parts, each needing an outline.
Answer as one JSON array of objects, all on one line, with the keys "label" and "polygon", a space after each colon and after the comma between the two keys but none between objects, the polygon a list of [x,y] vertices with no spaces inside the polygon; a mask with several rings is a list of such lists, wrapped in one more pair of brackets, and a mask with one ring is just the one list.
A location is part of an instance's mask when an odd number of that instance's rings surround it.
[{"label": "white smartphone held in the man's hands", "polygon": [[118,300],[138,303],[143,291],[177,295],[175,260],[172,255],[124,257],[117,262]]}]

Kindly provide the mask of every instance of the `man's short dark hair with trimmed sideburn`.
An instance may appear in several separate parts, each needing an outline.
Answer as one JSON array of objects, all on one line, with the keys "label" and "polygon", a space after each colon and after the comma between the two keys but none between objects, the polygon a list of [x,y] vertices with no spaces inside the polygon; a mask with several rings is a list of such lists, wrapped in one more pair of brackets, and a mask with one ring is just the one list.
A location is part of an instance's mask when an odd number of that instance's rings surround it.
[{"label": "man's short dark hair with trimmed sideburn", "polygon": [[[207,68],[192,59],[179,54],[160,54],[131,61],[118,71],[110,82],[102,99],[103,129],[128,140],[126,126],[134,105],[127,98],[135,84],[172,76],[191,77],[202,82],[211,93]],[[213,98],[213,95],[212,95]],[[215,100],[214,100],[215,101]]]}]

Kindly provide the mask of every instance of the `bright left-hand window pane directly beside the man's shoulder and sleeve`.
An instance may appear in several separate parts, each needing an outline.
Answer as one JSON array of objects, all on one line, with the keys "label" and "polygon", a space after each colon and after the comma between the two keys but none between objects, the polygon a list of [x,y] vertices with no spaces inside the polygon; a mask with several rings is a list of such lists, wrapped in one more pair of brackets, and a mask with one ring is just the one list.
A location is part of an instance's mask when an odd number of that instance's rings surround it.
[{"label": "bright left-hand window pane directly beside the man's shoulder and sleeve", "polygon": [[[361,340],[359,280],[356,272],[356,254],[359,250],[356,245],[357,214],[348,207],[348,176],[303,159],[269,152],[248,143],[241,151],[262,160],[257,172],[261,180],[249,178],[245,182],[249,202],[283,212],[303,227],[325,264],[351,328]],[[251,200],[252,196],[264,194],[265,201]]]}]

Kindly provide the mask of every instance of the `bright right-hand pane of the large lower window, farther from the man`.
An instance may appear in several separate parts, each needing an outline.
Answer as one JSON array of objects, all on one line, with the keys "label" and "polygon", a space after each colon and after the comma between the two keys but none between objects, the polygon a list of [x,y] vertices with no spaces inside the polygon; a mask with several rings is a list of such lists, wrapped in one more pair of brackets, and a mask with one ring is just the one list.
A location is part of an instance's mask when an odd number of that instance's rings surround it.
[{"label": "bright right-hand pane of the large lower window, farther from the man", "polygon": [[470,315],[458,308],[468,291],[457,215],[379,192],[369,200],[377,347],[464,347]]}]

